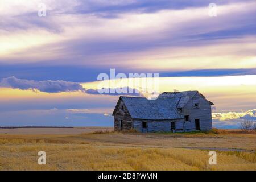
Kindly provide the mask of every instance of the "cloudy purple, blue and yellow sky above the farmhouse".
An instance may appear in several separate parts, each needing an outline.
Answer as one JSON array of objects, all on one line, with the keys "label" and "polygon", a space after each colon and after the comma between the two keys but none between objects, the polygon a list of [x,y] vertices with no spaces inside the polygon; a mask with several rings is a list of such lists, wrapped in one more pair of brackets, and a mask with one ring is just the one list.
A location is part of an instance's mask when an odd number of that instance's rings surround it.
[{"label": "cloudy purple, blue and yellow sky above the farmhouse", "polygon": [[113,126],[110,69],[199,90],[213,127],[256,121],[255,17],[254,0],[1,0],[0,126]]}]

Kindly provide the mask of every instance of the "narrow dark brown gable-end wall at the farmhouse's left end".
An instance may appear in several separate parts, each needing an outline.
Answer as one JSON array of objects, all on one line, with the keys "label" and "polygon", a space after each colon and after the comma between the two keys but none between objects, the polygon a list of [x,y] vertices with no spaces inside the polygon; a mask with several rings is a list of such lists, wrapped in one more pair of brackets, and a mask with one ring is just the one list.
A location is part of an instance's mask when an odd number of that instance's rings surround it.
[{"label": "narrow dark brown gable-end wall at the farmhouse's left end", "polygon": [[[123,106],[123,110],[122,110]],[[123,104],[122,100],[119,102],[117,112],[114,115],[114,130],[121,130],[121,120],[123,121],[122,130],[129,130],[133,128],[133,120]]]}]

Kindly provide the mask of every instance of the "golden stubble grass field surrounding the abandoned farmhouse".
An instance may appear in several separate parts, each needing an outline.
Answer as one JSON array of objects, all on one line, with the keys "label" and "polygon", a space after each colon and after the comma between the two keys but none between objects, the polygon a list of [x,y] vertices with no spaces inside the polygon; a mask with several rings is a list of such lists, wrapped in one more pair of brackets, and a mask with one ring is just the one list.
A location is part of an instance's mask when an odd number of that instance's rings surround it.
[{"label": "golden stubble grass field surrounding the abandoned farmhouse", "polygon": [[[236,131],[0,134],[0,169],[256,171],[255,141],[256,134]],[[217,165],[208,163],[210,150],[217,152]],[[38,164],[39,151],[46,151],[46,165]]]}]

